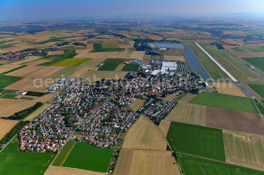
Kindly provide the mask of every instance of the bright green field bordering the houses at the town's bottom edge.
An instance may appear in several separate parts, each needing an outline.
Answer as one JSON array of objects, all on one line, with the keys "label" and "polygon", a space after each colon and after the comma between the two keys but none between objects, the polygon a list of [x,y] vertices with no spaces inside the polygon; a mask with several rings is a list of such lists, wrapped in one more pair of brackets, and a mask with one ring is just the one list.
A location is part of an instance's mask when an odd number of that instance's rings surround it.
[{"label": "bright green field bordering the houses at the town's bottom edge", "polygon": [[113,149],[77,142],[62,166],[104,173],[108,169],[113,152]]}]

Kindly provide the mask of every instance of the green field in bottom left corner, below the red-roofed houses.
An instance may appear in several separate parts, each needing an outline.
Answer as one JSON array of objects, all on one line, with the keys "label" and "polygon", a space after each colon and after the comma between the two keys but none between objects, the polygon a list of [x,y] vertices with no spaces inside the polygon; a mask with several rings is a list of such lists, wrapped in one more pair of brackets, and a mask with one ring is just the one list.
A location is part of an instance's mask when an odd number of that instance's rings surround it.
[{"label": "green field in bottom left corner, below the red-roofed houses", "polygon": [[55,153],[19,152],[17,137],[0,153],[0,174],[44,174]]}]

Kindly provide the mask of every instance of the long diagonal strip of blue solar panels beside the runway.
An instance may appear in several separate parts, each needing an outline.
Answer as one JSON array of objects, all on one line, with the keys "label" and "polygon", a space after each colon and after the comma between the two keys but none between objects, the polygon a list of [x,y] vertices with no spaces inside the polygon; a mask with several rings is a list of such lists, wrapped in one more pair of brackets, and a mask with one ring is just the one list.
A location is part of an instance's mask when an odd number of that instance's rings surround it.
[{"label": "long diagonal strip of blue solar panels beside the runway", "polygon": [[186,59],[189,67],[191,68],[192,72],[198,72],[202,75],[204,80],[209,82],[213,82],[214,80],[210,77],[210,75],[206,72],[202,64],[196,58],[194,53],[192,53],[191,49],[187,45],[183,45],[186,54],[184,54],[184,58]]}]

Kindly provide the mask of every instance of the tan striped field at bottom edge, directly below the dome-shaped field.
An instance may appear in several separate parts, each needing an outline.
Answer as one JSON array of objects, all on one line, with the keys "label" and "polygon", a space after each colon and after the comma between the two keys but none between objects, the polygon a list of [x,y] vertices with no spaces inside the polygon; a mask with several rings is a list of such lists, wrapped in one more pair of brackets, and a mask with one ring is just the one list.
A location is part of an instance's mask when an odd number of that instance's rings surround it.
[{"label": "tan striped field at bottom edge, directly below the dome-shaped field", "polygon": [[171,151],[135,150],[129,174],[176,174],[180,170]]}]

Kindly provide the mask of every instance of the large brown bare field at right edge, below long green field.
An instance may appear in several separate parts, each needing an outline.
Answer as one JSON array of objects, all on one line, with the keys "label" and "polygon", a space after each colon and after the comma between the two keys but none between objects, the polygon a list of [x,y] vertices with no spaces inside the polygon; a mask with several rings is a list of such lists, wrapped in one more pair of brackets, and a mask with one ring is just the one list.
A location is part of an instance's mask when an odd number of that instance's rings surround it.
[{"label": "large brown bare field at right edge, below long green field", "polygon": [[206,107],[206,126],[264,136],[261,115],[248,112]]}]

